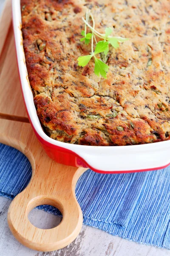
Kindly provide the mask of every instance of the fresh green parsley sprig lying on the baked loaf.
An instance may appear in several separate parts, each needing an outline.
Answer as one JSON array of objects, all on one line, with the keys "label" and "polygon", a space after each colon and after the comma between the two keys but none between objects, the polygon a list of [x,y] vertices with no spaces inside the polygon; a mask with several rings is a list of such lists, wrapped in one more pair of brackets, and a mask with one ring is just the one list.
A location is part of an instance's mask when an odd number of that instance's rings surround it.
[{"label": "fresh green parsley sprig lying on the baked loaf", "polygon": [[[88,21],[89,18],[91,18],[93,26],[91,26]],[[86,11],[85,19],[82,17],[82,20],[85,23],[85,30],[82,30],[81,35],[83,38],[80,39],[80,42],[85,41],[85,44],[89,44],[91,41],[91,52],[89,55],[80,56],[78,60],[78,65],[85,67],[88,62],[91,60],[92,57],[94,57],[94,73],[97,76],[102,76],[103,78],[107,78],[107,72],[109,70],[109,66],[105,64],[103,61],[101,61],[99,58],[96,57],[97,54],[103,52],[105,55],[109,52],[109,44],[111,44],[112,47],[117,49],[119,47],[119,42],[127,41],[128,38],[122,38],[118,36],[111,36],[111,33],[113,32],[113,29],[111,27],[105,29],[105,34],[99,33],[95,29],[95,21],[94,17],[91,14],[90,10],[88,9]],[[91,30],[91,32],[87,33],[87,27]],[[96,37],[101,38],[103,41],[97,42]],[[96,47],[94,50],[94,41],[96,43]]]}]

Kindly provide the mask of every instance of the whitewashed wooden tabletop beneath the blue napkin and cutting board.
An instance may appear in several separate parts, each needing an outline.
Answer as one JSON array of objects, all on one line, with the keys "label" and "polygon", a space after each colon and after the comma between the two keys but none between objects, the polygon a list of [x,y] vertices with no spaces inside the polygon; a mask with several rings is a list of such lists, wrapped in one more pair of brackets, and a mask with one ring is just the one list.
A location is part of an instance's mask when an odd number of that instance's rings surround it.
[{"label": "whitewashed wooden tabletop beneath the blue napkin and cutting board", "polygon": [[[0,12],[4,0],[0,0]],[[170,250],[138,244],[83,225],[77,239],[54,252],[38,252],[20,244],[7,224],[7,212],[11,200],[0,197],[0,256],[168,256]],[[59,223],[57,216],[33,209],[29,215],[30,221],[37,227],[50,228]]]}]

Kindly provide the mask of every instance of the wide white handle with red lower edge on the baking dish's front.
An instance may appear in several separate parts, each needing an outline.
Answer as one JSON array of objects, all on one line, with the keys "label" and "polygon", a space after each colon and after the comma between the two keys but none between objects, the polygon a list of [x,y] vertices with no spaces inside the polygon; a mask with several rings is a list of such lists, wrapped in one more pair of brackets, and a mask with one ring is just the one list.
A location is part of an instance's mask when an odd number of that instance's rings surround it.
[{"label": "wide white handle with red lower edge on the baking dish's front", "polygon": [[170,141],[103,148],[89,147],[76,153],[92,170],[101,173],[139,172],[170,165]]}]

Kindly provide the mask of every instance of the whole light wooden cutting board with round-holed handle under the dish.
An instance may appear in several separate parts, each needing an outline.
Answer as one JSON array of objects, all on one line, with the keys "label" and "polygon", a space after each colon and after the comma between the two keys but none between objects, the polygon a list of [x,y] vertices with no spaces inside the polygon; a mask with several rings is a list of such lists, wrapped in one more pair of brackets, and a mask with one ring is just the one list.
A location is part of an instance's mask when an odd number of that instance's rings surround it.
[{"label": "whole light wooden cutting board with round-holed handle under the dish", "polygon": [[[70,244],[82,227],[82,211],[75,196],[78,178],[84,168],[64,166],[43,151],[29,124],[17,70],[11,23],[11,0],[0,19],[0,143],[17,148],[32,166],[31,181],[12,201],[8,224],[18,241],[34,250],[58,250]],[[34,227],[28,213],[41,204],[62,212],[59,226],[43,230]]]}]

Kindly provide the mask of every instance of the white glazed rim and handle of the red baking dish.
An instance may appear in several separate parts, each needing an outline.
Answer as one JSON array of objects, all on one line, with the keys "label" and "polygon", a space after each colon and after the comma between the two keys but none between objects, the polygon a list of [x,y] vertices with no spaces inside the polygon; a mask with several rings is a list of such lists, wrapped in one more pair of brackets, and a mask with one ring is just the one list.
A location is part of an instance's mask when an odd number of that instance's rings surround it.
[{"label": "white glazed rim and handle of the red baking dish", "polygon": [[12,0],[12,17],[18,69],[26,108],[34,129],[43,140],[52,145],[71,150],[73,154],[76,153],[84,159],[91,168],[103,172],[159,169],[170,164],[170,140],[142,145],[88,146],[63,143],[48,137],[42,130],[38,119],[28,81],[21,32],[20,0]]}]

